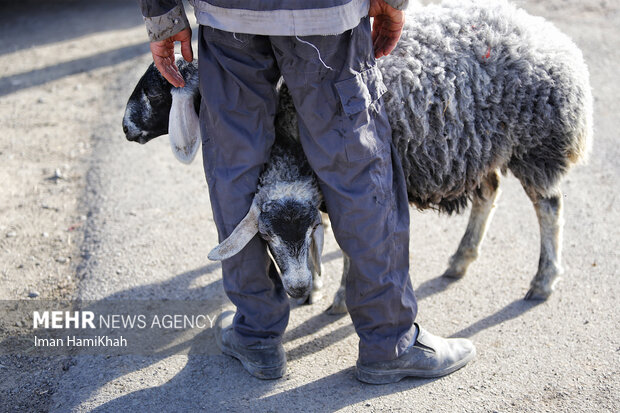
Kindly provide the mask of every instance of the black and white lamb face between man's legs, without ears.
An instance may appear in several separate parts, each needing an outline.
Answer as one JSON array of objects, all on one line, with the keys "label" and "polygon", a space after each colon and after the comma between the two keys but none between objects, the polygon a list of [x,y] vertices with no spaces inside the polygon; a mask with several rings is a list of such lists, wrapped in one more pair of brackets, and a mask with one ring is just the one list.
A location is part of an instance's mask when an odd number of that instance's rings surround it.
[{"label": "black and white lamb face between man's legs, without ears", "polygon": [[322,230],[319,210],[312,203],[284,199],[261,207],[258,233],[267,241],[284,289],[293,298],[306,297],[312,290],[313,249],[316,231]]}]

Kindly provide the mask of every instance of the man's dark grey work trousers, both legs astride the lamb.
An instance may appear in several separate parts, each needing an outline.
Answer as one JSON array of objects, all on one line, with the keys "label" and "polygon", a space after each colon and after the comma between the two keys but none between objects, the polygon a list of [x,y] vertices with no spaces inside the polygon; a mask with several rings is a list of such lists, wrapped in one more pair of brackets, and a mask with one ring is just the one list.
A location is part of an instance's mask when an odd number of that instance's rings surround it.
[{"label": "man's dark grey work trousers, both legs astride the lamb", "polygon": [[[340,247],[351,257],[346,304],[365,362],[398,357],[415,332],[409,209],[373,57],[369,19],[334,36],[259,36],[201,26],[203,160],[220,241],[248,212],[275,139],[276,83],[284,78],[301,143],[319,179]],[[288,297],[256,236],[222,262],[246,345],[282,339]]]}]

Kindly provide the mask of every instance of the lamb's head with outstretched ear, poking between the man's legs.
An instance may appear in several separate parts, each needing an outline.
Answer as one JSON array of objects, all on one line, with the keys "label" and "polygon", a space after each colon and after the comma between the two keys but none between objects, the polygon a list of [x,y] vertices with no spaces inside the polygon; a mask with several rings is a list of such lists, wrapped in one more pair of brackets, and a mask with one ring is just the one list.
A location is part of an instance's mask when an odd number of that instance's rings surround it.
[{"label": "lamb's head with outstretched ear, poking between the man's legs", "polygon": [[209,253],[209,259],[232,257],[258,234],[269,246],[286,292],[294,298],[305,297],[312,290],[313,273],[320,274],[321,268],[320,200],[282,197],[264,201],[260,195],[232,234]]}]

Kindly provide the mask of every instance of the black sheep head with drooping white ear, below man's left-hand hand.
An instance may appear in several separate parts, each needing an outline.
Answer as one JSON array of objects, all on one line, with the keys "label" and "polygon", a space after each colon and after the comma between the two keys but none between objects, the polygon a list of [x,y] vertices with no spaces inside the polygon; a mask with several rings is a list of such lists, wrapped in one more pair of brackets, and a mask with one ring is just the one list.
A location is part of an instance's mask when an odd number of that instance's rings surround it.
[{"label": "black sheep head with drooping white ear, below man's left-hand hand", "polygon": [[198,67],[182,58],[177,66],[183,88],[168,83],[154,64],[148,67],[127,102],[123,132],[127,140],[141,144],[168,133],[177,159],[189,163],[200,145]]}]

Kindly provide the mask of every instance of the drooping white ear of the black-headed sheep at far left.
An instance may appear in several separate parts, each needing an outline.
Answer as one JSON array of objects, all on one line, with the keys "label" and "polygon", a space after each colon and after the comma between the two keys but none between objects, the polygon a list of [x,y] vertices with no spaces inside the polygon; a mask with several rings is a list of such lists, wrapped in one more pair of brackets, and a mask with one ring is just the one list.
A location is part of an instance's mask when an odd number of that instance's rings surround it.
[{"label": "drooping white ear of the black-headed sheep at far left", "polygon": [[174,156],[183,163],[191,163],[200,147],[200,122],[194,96],[186,89],[172,89],[168,135]]}]

